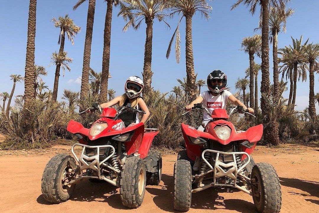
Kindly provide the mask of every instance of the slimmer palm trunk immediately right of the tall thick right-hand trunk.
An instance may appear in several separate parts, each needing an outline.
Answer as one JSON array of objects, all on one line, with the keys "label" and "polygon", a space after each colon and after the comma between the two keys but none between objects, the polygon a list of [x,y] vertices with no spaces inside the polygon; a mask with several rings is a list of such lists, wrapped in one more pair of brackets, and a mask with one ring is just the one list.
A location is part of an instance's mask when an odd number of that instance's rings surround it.
[{"label": "slimmer palm trunk immediately right of the tall thick right-hand trunk", "polygon": [[279,72],[278,72],[278,34],[277,32],[272,32],[273,42],[272,42],[272,57],[274,63],[274,97],[279,98]]}]

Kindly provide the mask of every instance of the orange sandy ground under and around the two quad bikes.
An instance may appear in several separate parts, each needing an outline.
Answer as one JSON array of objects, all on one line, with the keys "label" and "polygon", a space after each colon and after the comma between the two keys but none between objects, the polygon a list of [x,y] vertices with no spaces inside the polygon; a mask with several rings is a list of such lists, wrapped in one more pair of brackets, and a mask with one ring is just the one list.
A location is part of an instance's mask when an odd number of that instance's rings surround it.
[{"label": "orange sandy ground under and around the two quad bikes", "polygon": [[[41,194],[41,176],[49,159],[70,153],[69,146],[49,150],[0,150],[1,211],[12,212],[176,212],[172,188],[175,154],[163,155],[163,175],[159,186],[147,186],[144,202],[138,209],[122,206],[119,189],[107,183],[82,181],[70,200],[51,204]],[[281,148],[259,146],[253,154],[258,162],[271,163],[282,185],[281,212],[319,212],[319,147],[282,145]],[[192,194],[189,212],[256,212],[252,198],[243,192],[213,188]]]}]

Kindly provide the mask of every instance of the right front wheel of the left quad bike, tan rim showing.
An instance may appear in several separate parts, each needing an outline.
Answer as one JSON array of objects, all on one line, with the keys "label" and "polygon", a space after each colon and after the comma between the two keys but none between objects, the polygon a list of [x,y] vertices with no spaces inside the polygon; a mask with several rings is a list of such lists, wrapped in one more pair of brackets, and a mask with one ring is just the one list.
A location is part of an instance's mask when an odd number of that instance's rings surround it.
[{"label": "right front wheel of the left quad bike, tan rim showing", "polygon": [[122,204],[128,208],[139,207],[144,199],[146,169],[144,161],[136,156],[125,160],[120,178]]}]

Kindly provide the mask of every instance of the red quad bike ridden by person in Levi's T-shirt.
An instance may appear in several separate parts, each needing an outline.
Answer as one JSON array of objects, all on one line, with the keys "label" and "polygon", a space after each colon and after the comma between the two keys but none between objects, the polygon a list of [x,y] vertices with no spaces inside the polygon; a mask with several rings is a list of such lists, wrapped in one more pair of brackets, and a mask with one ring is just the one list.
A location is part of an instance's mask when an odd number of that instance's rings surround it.
[{"label": "red quad bike ridden by person in Levi's T-shirt", "polygon": [[[192,110],[197,108],[205,110],[212,120],[204,132],[181,124],[186,150],[178,153],[174,165],[174,209],[188,211],[191,194],[213,186],[237,188],[253,197],[258,212],[278,213],[281,208],[278,175],[272,165],[255,164],[250,156],[262,137],[263,125],[236,131],[225,109],[217,108],[211,114],[203,104],[194,104]],[[235,112],[252,115],[241,106],[232,108],[230,114]],[[194,171],[191,165],[197,157],[199,171]]]}]

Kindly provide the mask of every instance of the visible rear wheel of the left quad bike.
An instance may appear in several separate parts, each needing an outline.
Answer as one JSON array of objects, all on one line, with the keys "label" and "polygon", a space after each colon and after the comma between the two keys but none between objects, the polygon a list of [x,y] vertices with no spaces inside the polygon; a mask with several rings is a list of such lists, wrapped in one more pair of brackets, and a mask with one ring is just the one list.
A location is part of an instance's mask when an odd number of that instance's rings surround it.
[{"label": "visible rear wheel of the left quad bike", "polygon": [[157,164],[155,172],[146,171],[146,184],[158,185],[162,178],[162,154],[159,151],[149,151],[147,156],[156,159]]}]

